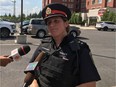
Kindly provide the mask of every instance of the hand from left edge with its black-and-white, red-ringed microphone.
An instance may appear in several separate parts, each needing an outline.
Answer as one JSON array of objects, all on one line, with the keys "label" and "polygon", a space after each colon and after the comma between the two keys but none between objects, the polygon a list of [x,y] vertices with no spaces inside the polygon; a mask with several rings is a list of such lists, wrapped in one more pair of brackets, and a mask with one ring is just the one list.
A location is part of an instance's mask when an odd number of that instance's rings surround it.
[{"label": "hand from left edge with its black-and-white, red-ringed microphone", "polygon": [[6,66],[12,61],[18,61],[21,59],[21,56],[27,54],[30,51],[29,46],[22,46],[11,51],[9,56],[0,56],[0,66]]}]

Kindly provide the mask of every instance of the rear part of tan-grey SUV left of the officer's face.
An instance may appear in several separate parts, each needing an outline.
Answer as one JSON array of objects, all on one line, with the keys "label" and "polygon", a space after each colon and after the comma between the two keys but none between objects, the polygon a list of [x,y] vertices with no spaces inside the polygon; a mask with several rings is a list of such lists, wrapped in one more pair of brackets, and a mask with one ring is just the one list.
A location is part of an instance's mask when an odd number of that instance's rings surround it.
[{"label": "rear part of tan-grey SUV left of the officer's face", "polygon": [[36,35],[39,38],[48,34],[47,26],[42,18],[32,18],[29,22],[28,34]]}]

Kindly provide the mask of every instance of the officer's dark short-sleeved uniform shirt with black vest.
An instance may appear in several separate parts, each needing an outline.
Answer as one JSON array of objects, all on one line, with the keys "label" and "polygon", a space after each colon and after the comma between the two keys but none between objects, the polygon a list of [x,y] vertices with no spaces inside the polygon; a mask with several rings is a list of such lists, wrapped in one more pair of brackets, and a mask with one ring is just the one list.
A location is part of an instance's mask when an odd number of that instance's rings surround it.
[{"label": "officer's dark short-sleeved uniform shirt with black vest", "polygon": [[100,80],[91,51],[85,42],[67,35],[59,47],[56,47],[55,41],[51,38],[50,42],[41,44],[36,49],[30,62],[34,61],[42,47],[47,49],[46,52],[50,56],[43,58],[44,62],[40,65],[41,72],[38,75],[40,87],[75,87]]}]

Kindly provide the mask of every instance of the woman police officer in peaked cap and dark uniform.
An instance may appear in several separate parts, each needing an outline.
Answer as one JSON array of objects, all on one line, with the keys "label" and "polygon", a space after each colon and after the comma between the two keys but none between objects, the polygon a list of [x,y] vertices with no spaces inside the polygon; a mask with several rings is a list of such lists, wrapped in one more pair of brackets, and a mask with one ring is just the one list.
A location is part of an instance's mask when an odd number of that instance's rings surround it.
[{"label": "woman police officer in peaked cap and dark uniform", "polygon": [[42,16],[51,38],[36,49],[31,59],[33,62],[41,50],[48,53],[36,72],[39,87],[96,87],[100,76],[89,46],[68,34],[70,10],[62,4],[53,3],[42,10]]}]

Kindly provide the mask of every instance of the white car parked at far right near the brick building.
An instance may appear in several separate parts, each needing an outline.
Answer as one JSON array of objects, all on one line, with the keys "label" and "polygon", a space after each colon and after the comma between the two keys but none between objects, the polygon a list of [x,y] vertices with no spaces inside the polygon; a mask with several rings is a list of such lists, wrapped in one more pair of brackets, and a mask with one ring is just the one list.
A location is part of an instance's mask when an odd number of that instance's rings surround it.
[{"label": "white car parked at far right near the brick building", "polygon": [[96,26],[97,30],[103,30],[103,31],[107,31],[107,30],[116,30],[116,24],[114,22],[110,22],[110,21],[101,21],[101,22],[97,22]]}]

